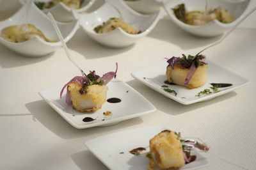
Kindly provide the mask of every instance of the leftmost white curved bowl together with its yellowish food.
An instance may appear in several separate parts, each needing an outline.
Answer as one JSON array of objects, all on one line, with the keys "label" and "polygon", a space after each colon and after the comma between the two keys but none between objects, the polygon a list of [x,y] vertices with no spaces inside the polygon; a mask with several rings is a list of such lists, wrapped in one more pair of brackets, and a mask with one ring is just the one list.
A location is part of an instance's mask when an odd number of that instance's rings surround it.
[{"label": "leftmost white curved bowl together with its yellowish food", "polygon": [[[79,20],[58,23],[65,42],[72,38],[78,26]],[[33,3],[30,7],[27,3],[10,19],[1,22],[0,33],[0,42],[23,56],[45,56],[61,47],[50,20]]]}]

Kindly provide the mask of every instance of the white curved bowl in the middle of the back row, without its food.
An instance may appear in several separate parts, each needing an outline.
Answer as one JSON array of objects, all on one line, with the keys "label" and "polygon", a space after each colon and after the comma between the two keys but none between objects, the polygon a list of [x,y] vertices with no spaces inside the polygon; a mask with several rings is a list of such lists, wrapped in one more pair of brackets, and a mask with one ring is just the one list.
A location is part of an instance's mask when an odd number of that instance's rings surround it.
[{"label": "white curved bowl in the middle of the back row, without its food", "polygon": [[[95,33],[93,30],[94,27],[101,25],[102,22],[106,22],[106,20],[112,17],[120,17],[120,13],[113,6],[122,13],[125,22],[134,27],[136,31],[143,32],[137,35],[131,35],[118,27],[109,33]],[[93,40],[102,45],[108,47],[127,47],[152,31],[159,20],[159,14],[160,12],[152,15],[142,15],[134,12],[122,0],[106,0],[106,3],[95,12],[83,14],[80,24]]]}]

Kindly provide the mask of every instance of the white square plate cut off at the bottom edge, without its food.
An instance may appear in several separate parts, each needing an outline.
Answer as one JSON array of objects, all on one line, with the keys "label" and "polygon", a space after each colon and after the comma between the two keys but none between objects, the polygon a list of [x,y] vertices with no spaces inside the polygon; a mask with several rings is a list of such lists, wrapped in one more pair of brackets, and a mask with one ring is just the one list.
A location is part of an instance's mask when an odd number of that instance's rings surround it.
[{"label": "white square plate cut off at the bottom edge, without its food", "polygon": [[[149,151],[147,148],[149,140],[166,129],[169,128],[160,126],[134,128],[85,141],[85,145],[109,169],[147,169],[148,160],[145,156]],[[143,151],[138,156],[129,153],[130,150],[138,147],[147,148],[147,151]],[[193,155],[196,155],[196,160],[180,169],[199,169],[209,165],[207,158],[199,152],[195,151]]]}]

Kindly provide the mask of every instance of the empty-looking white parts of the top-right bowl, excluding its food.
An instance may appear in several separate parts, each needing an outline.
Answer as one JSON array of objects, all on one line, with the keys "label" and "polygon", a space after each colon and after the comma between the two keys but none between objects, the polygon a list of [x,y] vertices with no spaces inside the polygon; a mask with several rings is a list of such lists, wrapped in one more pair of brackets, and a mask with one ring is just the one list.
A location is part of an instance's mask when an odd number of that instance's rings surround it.
[{"label": "empty-looking white parts of the top-right bowl, excluding its food", "polygon": [[181,29],[184,29],[184,31],[187,31],[188,33],[191,33],[196,36],[218,36],[236,25],[237,22],[241,19],[242,16],[246,13],[246,10],[248,9],[248,6],[250,4],[251,0],[244,0],[244,1],[223,1],[223,0],[214,0],[209,1],[209,7],[210,8],[217,8],[218,6],[221,7],[223,10],[228,10],[228,12],[232,13],[235,17],[235,20],[233,22],[230,22],[228,24],[223,24],[222,22],[218,20],[212,20],[211,22],[208,22],[207,24],[204,24],[202,26],[191,26],[189,24],[185,24],[184,22],[180,21],[175,17],[172,8],[177,6],[177,4],[184,3],[186,6],[186,9],[188,12],[194,11],[194,10],[203,10],[205,8],[205,0],[182,0],[177,1],[176,3],[163,3],[164,9],[170,16],[170,18],[173,20],[177,26],[179,26]]}]

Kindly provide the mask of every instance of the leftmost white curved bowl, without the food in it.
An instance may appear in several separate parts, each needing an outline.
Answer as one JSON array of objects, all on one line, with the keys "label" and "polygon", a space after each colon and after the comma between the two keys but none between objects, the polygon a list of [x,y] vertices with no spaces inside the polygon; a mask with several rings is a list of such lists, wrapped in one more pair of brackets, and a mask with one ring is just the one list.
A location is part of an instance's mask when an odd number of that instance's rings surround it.
[{"label": "leftmost white curved bowl, without the food in it", "polygon": [[[20,10],[15,13],[15,15],[10,17],[10,19],[0,22],[0,33],[5,27],[26,24],[26,11],[28,10],[28,5],[29,3],[22,6],[22,8],[20,8]],[[52,40],[57,40],[58,42],[45,42],[38,36],[35,36],[26,42],[20,43],[9,42],[0,36],[0,42],[9,49],[22,54],[23,56],[29,57],[45,56],[54,52],[56,47],[61,47],[61,42],[58,39],[56,32],[54,31],[54,27],[52,26],[51,21],[35,6],[35,4],[31,5],[28,14],[28,24],[33,24],[37,29],[44,33],[45,37]],[[76,33],[77,28],[79,27],[79,20],[74,20],[70,23],[57,22],[57,24],[60,28],[63,38],[65,39],[65,42],[68,42],[68,40],[72,38],[72,36]]]}]

